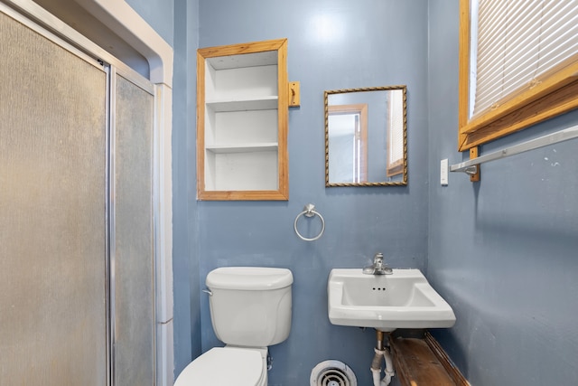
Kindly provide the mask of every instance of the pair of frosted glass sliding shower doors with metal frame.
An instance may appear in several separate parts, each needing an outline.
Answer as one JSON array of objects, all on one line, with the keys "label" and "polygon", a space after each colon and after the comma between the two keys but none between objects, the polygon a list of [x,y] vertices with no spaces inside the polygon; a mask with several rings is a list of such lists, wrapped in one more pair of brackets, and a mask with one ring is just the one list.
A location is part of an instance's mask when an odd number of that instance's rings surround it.
[{"label": "pair of frosted glass sliding shower doors with metal frame", "polygon": [[4,5],[0,47],[0,384],[154,385],[154,85]]}]

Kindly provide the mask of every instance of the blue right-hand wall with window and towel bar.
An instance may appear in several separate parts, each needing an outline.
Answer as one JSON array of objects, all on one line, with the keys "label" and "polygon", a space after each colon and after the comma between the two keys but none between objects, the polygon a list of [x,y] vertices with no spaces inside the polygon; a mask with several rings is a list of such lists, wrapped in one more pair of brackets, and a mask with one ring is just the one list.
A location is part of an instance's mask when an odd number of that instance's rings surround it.
[{"label": "blue right-hand wall with window and towel bar", "polygon": [[[454,308],[436,336],[473,385],[578,384],[578,142],[450,175],[457,148],[455,1],[430,1],[428,277]],[[482,146],[489,152],[578,124],[578,112]]]}]

